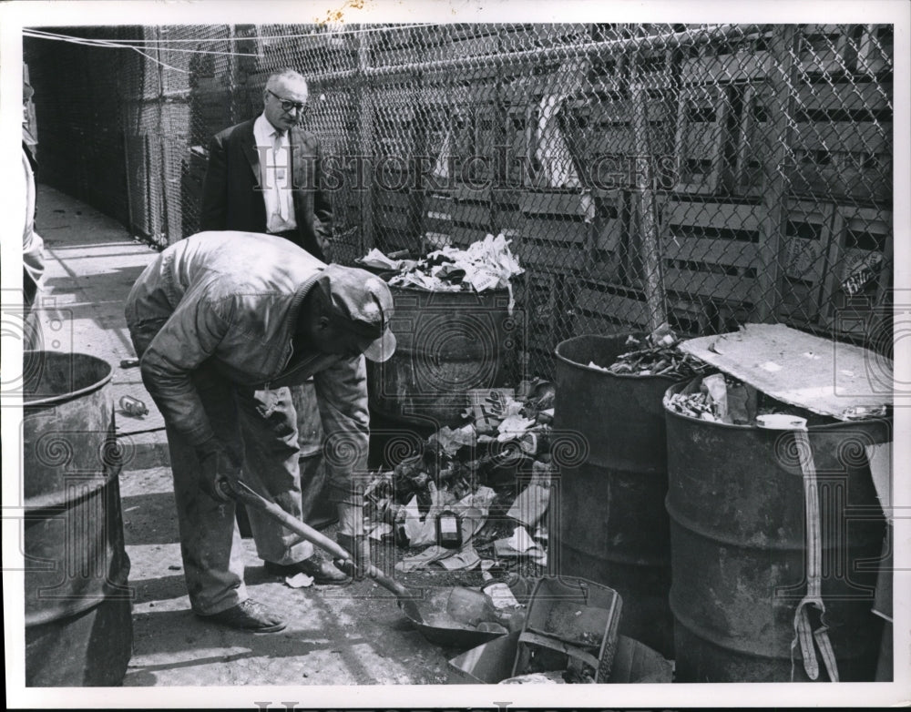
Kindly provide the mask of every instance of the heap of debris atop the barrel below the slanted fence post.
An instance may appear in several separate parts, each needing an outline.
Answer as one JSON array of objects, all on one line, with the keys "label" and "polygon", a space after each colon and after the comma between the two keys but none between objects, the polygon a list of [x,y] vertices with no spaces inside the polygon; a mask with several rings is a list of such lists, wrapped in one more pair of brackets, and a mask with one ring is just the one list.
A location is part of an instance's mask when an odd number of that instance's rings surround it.
[{"label": "heap of debris atop the barrel below the slanted fence post", "polygon": [[623,375],[673,378],[691,378],[707,371],[707,364],[680,350],[680,342],[670,326],[663,323],[641,339],[630,335],[625,344],[630,351],[621,353],[610,364],[590,361],[589,367]]}]

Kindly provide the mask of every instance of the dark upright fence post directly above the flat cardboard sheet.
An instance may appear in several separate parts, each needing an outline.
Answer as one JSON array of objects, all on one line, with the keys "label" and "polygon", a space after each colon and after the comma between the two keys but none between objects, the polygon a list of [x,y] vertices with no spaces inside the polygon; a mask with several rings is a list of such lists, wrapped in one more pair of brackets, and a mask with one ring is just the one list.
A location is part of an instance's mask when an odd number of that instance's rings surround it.
[{"label": "dark upright fence post directly above the flat cardboard sheet", "polygon": [[755,319],[770,322],[775,319],[782,297],[782,247],[787,219],[787,198],[790,180],[785,175],[785,161],[791,157],[793,139],[794,60],[799,40],[796,25],[773,25],[771,52],[773,70],[770,73],[773,101],[769,130],[777,137],[772,155],[766,157],[763,172],[769,177],[763,191],[763,211],[759,225],[760,286],[759,298],[753,311]]}]

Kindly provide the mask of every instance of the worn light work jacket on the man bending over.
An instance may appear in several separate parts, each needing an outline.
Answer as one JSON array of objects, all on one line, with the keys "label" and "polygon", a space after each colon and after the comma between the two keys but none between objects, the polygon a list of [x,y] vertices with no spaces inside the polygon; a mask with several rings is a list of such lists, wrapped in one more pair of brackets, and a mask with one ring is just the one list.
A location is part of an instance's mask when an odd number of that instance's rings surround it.
[{"label": "worn light work jacket on the man bending over", "polygon": [[324,267],[286,239],[233,231],[182,239],[148,265],[129,293],[126,317],[134,340],[154,333],[139,354],[142,381],[171,427],[194,445],[214,435],[191,378],[203,364],[256,390],[312,376],[327,438],[353,447],[352,471],[366,471],[363,356],[292,348],[303,298]]}]

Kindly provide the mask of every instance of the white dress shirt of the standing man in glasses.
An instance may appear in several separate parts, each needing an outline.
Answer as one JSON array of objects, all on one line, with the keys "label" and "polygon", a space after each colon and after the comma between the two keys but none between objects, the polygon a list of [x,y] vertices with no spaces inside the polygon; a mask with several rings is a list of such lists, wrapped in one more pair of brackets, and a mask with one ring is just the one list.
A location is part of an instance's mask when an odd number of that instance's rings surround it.
[{"label": "white dress shirt of the standing man in glasses", "polygon": [[288,132],[280,132],[261,114],[253,122],[253,137],[260,157],[260,186],[266,203],[266,230],[284,232],[297,228],[291,180],[291,145]]}]

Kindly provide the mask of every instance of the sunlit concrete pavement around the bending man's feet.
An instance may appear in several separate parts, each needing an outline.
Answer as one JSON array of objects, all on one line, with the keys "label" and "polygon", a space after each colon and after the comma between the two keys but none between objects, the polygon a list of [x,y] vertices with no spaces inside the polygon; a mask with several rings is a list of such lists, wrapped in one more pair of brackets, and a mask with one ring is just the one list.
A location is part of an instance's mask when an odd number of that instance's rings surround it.
[{"label": "sunlit concrete pavement around the bending man's feet", "polygon": [[[250,540],[245,545],[251,596],[286,615],[288,628],[257,636],[207,624],[190,612],[163,422],[138,369],[119,367],[122,359],[135,356],[123,319],[124,301],[157,253],[117,222],[52,188],[39,187],[37,205],[36,229],[45,239],[47,261],[41,298],[45,348],[89,353],[110,362],[115,371],[118,439],[125,453],[120,492],[129,582],[135,592],[134,652],[124,685],[449,681],[446,660],[460,651],[429,644],[392,594],[370,580],[292,589],[265,573]],[[120,411],[116,403],[127,393],[147,404],[148,415],[136,418]],[[261,693],[251,696],[235,696],[231,707],[265,699]]]}]

